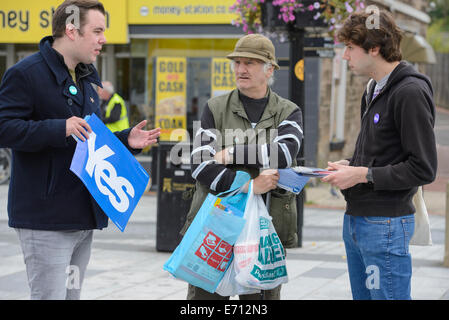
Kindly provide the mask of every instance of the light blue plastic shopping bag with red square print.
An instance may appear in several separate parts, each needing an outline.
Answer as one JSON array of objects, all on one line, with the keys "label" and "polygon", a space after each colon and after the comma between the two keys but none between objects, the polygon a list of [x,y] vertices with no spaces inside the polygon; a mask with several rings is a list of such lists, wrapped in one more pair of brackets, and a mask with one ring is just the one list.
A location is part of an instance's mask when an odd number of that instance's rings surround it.
[{"label": "light blue plastic shopping bag with red square print", "polygon": [[238,193],[249,174],[238,171],[231,195],[208,194],[181,243],[164,264],[164,270],[178,279],[215,292],[232,260],[233,245],[245,225],[247,193]]}]

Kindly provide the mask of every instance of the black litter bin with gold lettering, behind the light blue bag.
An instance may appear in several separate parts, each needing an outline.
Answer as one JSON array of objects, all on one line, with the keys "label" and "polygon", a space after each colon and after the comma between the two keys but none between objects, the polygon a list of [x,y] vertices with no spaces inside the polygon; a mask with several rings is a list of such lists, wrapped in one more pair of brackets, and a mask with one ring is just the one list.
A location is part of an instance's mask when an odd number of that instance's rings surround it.
[{"label": "black litter bin with gold lettering, behind the light blue bag", "polygon": [[[191,176],[189,144],[160,143],[157,155],[156,250],[172,252],[192,202],[195,180]],[[184,150],[170,157],[172,148]]]}]

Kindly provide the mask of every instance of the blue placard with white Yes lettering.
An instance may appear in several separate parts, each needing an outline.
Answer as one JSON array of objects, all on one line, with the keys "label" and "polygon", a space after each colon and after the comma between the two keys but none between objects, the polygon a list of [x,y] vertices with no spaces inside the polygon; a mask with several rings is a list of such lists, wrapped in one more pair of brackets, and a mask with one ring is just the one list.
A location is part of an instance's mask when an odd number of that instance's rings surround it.
[{"label": "blue placard with white Yes lettering", "polygon": [[92,133],[87,141],[78,141],[70,170],[123,232],[150,177],[95,114],[86,120]]}]

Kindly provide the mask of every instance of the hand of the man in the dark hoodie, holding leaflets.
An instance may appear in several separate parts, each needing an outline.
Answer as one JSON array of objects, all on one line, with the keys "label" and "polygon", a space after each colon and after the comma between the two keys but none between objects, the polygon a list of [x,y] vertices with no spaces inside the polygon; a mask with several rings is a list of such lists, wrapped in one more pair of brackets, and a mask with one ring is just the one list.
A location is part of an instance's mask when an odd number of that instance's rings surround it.
[{"label": "hand of the man in the dark hoodie, holding leaflets", "polygon": [[358,183],[368,182],[366,180],[366,174],[368,173],[367,167],[352,167],[336,162],[328,162],[328,170],[335,172],[321,178],[321,181],[328,182],[341,190],[348,189]]}]

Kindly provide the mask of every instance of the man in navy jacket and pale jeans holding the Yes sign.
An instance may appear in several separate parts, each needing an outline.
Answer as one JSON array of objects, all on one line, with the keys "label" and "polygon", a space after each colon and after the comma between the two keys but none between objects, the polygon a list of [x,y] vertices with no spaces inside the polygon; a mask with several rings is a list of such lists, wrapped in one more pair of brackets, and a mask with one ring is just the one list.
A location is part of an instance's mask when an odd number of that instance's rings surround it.
[{"label": "man in navy jacket and pale jeans holding the Yes sign", "polygon": [[[73,18],[73,19],[72,19]],[[101,3],[64,1],[53,17],[53,36],[39,52],[10,68],[0,86],[0,146],[13,150],[8,195],[9,226],[17,230],[32,299],[79,299],[94,229],[108,218],[69,170],[76,142],[100,116],[92,63],[105,44]],[[146,121],[116,136],[134,154],[160,129]],[[67,273],[73,281],[67,282]]]}]

